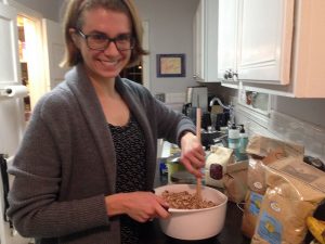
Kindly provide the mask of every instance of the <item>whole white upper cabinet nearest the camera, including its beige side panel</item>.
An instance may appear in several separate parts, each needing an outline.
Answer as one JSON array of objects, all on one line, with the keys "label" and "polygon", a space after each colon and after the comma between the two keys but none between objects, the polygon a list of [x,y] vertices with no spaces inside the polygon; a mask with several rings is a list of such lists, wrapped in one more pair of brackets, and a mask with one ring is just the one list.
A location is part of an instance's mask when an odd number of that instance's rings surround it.
[{"label": "whole white upper cabinet nearest the camera, including its beige side panel", "polygon": [[325,98],[324,12],[324,0],[219,0],[218,77],[224,86]]}]

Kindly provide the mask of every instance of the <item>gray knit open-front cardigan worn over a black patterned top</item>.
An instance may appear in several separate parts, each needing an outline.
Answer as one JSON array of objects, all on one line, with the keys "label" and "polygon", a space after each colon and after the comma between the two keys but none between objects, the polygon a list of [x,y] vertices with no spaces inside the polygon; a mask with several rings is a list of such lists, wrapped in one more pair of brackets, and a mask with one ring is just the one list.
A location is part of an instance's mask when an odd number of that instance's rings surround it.
[{"label": "gray knit open-front cardigan worn over a black patterned top", "polygon": [[[135,82],[116,78],[116,89],[143,128],[151,190],[157,139],[177,142],[195,126]],[[118,218],[108,218],[104,204],[115,193],[114,144],[81,64],[38,102],[9,172],[15,179],[8,215],[23,236],[42,244],[120,243]]]}]

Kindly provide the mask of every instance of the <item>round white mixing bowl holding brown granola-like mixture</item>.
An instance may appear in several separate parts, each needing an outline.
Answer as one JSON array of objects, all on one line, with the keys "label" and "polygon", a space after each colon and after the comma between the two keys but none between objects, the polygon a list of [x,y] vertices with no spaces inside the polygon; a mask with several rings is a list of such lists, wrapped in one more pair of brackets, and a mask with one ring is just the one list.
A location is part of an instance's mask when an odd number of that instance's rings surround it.
[{"label": "round white mixing bowl holding brown granola-like mixture", "polygon": [[[155,189],[156,195],[161,195],[167,190],[169,192],[187,191],[196,192],[195,184],[167,184]],[[217,204],[214,207],[202,209],[176,209],[169,208],[170,217],[159,219],[162,232],[180,240],[204,240],[219,234],[224,226],[227,197],[222,192],[202,187],[202,196],[206,201]]]}]

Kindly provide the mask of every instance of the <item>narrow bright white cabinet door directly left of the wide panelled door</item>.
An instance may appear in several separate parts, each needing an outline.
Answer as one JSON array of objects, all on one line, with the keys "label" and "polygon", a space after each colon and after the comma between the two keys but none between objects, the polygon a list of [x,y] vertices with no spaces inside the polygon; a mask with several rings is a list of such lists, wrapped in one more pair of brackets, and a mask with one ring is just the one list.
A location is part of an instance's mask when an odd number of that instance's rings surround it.
[{"label": "narrow bright white cabinet door directly left of the wide panelled door", "polygon": [[238,33],[238,0],[219,1],[218,79],[230,69],[236,70]]}]

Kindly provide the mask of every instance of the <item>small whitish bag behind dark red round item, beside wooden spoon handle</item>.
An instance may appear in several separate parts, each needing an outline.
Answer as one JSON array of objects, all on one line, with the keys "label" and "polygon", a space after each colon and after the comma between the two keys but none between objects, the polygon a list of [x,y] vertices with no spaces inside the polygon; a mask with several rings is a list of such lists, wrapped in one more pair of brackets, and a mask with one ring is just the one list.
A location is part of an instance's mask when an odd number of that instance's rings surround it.
[{"label": "small whitish bag behind dark red round item, beside wooden spoon handle", "polygon": [[205,182],[207,185],[223,188],[223,176],[226,165],[234,163],[233,150],[212,145],[206,159]]}]

